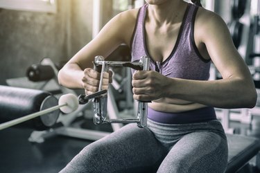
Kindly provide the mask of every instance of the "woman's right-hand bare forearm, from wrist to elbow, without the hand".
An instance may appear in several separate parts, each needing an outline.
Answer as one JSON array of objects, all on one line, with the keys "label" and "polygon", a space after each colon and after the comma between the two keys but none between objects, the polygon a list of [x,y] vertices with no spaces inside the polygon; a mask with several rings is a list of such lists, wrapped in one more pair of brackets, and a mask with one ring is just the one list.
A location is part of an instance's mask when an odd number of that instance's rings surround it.
[{"label": "woman's right-hand bare forearm, from wrist to elbow, without the hand", "polygon": [[182,100],[220,108],[252,108],[257,93],[249,80],[229,78],[212,81],[171,79],[166,94]]}]

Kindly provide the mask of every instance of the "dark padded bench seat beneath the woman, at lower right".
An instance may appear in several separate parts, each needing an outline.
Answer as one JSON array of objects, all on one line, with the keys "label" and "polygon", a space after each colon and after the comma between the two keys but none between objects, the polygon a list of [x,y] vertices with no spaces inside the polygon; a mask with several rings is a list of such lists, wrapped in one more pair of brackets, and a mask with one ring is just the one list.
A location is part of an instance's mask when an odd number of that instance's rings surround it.
[{"label": "dark padded bench seat beneath the woman, at lower right", "polygon": [[257,156],[260,140],[250,136],[227,134],[228,163],[226,173],[239,171],[251,158]]}]

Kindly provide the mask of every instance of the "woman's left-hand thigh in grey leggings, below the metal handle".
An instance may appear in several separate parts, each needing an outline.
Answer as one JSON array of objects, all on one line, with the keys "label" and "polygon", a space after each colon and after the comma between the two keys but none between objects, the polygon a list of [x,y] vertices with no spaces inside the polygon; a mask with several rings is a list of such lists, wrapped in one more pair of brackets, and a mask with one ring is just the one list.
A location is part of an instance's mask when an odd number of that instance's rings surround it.
[{"label": "woman's left-hand thigh in grey leggings, below the metal handle", "polygon": [[61,172],[144,172],[166,156],[148,128],[125,125],[87,145]]}]

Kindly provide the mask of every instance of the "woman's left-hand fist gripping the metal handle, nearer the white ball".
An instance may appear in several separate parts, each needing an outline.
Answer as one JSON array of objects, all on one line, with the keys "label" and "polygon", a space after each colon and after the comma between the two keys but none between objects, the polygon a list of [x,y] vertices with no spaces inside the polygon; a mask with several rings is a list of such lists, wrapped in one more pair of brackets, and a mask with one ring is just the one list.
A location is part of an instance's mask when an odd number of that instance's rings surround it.
[{"label": "woman's left-hand fist gripping the metal handle, nearer the white ball", "polygon": [[[94,69],[87,68],[84,70],[84,76],[82,78],[83,88],[85,93],[90,95],[98,91],[99,82],[101,79],[101,73]],[[112,83],[112,71],[105,72],[103,75],[102,90],[108,89],[109,83]]]}]

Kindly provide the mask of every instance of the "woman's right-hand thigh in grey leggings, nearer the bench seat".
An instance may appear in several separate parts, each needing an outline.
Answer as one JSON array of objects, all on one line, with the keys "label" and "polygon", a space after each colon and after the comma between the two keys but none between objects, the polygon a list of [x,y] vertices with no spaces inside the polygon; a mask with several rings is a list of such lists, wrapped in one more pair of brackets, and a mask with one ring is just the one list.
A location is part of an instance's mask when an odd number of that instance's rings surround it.
[{"label": "woman's right-hand thigh in grey leggings, nearer the bench seat", "polygon": [[168,152],[158,172],[225,172],[227,140],[211,131],[183,136]]}]

